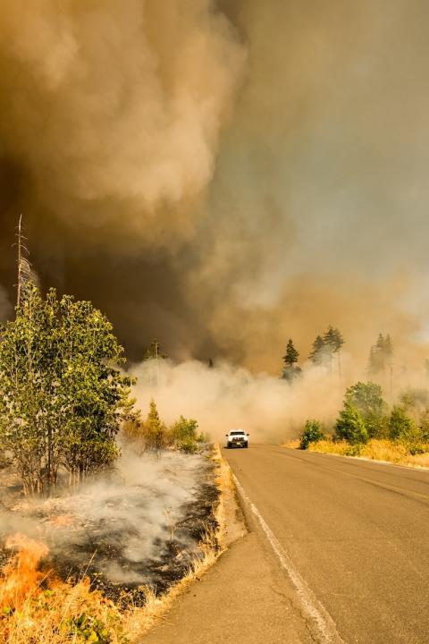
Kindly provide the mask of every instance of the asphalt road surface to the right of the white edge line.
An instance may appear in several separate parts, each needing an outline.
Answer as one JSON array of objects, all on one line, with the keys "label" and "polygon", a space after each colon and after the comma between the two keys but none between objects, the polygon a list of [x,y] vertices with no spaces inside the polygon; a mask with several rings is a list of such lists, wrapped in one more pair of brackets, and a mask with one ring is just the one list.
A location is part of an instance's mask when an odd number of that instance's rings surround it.
[{"label": "asphalt road surface to the right of the white edge line", "polygon": [[429,642],[429,472],[274,445],[223,455],[299,601],[349,644]]}]

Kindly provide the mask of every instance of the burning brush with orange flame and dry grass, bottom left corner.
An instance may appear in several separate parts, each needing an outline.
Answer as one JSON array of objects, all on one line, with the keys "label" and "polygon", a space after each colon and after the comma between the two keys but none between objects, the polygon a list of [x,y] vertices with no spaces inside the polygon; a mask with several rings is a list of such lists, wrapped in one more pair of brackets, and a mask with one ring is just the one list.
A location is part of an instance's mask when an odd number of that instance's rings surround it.
[{"label": "burning brush with orange flame and dry grass, bottom left corner", "polygon": [[[8,644],[97,642],[127,644],[124,628],[132,611],[121,614],[113,602],[89,588],[43,570],[45,544],[22,535],[8,538],[13,551],[0,572],[0,641]],[[128,625],[128,624],[127,624]]]}]

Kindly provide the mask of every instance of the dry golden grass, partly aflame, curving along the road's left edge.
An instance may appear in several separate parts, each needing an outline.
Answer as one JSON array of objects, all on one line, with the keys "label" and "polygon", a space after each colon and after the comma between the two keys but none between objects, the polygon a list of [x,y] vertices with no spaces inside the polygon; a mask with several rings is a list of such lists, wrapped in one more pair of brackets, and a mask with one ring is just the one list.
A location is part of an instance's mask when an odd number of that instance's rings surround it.
[{"label": "dry golden grass, partly aflame, curving along the road's left edge", "polygon": [[189,572],[164,596],[146,588],[144,607],[120,611],[99,591],[89,589],[88,580],[76,584],[55,580],[50,572],[39,572],[38,563],[46,547],[15,537],[14,555],[0,572],[0,642],[8,644],[126,644],[137,641],[163,618],[173,600],[199,579],[221,555],[224,547],[224,492],[231,487],[231,472],[219,448],[214,453],[217,484],[221,490],[216,508],[217,530],[206,530],[200,556]]}]

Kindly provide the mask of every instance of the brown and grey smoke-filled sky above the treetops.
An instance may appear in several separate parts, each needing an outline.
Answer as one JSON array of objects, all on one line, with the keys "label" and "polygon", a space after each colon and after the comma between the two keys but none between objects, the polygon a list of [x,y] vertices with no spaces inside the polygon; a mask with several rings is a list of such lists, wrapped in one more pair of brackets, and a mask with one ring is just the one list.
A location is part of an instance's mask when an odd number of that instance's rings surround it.
[{"label": "brown and grey smoke-filled sky above the treetops", "polygon": [[41,283],[132,360],[157,336],[275,372],[329,324],[358,360],[380,331],[416,352],[428,21],[424,0],[3,0],[9,300],[22,212]]}]

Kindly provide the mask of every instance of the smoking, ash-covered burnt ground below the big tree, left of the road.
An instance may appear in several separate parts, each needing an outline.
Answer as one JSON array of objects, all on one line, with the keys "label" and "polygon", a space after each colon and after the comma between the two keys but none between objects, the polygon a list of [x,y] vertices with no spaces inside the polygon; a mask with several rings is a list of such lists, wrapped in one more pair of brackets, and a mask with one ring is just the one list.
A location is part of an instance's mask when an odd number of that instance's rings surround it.
[{"label": "smoking, ash-covered burnt ground below the big tree, left of the road", "polygon": [[[139,587],[148,584],[168,589],[215,527],[219,493],[208,453],[124,453],[108,477],[49,499],[26,498],[6,470],[0,476],[2,543],[16,532],[44,541],[45,564],[59,577],[88,576],[116,601],[143,602]],[[9,556],[3,549],[0,565]]]}]

